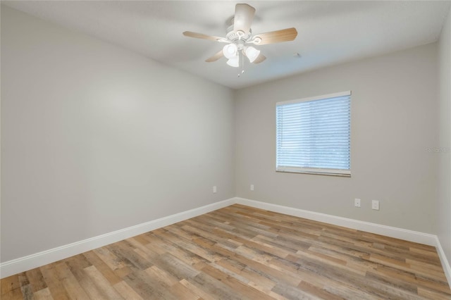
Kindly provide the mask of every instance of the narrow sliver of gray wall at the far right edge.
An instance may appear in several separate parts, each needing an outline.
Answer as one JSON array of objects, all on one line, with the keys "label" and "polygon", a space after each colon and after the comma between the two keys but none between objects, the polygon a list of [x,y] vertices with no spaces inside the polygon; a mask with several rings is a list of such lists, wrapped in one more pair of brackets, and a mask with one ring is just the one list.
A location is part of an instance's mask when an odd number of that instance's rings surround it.
[{"label": "narrow sliver of gray wall at the far right edge", "polygon": [[440,159],[438,181],[438,237],[451,263],[451,9],[439,42]]}]

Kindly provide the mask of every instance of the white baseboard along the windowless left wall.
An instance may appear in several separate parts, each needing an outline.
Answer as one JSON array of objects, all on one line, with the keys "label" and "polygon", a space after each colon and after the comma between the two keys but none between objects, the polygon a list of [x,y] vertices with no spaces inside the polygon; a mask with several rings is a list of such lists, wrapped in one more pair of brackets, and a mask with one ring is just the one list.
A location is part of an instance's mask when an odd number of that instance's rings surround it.
[{"label": "white baseboard along the windowless left wall", "polygon": [[167,217],[159,218],[135,226],[130,226],[121,230],[106,233],[104,235],[99,235],[97,237],[83,239],[79,242],[59,246],[54,249],[39,252],[37,254],[32,254],[29,256],[13,259],[11,261],[6,261],[4,263],[0,263],[0,278],[25,272],[26,270],[31,270],[32,268],[37,268],[41,265],[46,265],[47,263],[53,263],[55,261],[81,254],[83,252],[99,248],[101,246],[119,242],[123,239],[134,237],[135,235],[141,235],[144,232],[149,232],[164,226],[171,225],[173,223],[187,220],[189,218],[194,218],[197,215],[209,213],[210,211],[215,211],[216,209],[230,206],[234,203],[235,199],[219,201],[214,204],[201,206],[199,208],[193,208],[189,211],[183,211],[182,213],[175,213],[174,215],[168,215]]}]

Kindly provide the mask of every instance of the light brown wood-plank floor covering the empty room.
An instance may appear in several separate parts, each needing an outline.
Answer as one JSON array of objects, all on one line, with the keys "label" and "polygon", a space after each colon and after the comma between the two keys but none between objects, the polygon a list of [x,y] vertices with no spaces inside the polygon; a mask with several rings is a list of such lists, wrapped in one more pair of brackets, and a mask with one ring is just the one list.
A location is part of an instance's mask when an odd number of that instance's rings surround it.
[{"label": "light brown wood-plank floor covering the empty room", "polygon": [[233,205],[1,280],[1,299],[451,299],[435,248]]}]

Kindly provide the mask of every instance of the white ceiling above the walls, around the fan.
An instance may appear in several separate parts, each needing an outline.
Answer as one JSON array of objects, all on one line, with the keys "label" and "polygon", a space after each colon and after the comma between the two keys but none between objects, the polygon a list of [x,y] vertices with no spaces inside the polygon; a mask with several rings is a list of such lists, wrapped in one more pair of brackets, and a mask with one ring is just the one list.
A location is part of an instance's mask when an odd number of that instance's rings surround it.
[{"label": "white ceiling above the walls, around the fan", "polygon": [[[436,42],[451,1],[1,1],[79,32],[137,51],[221,85],[261,82]],[[295,41],[257,46],[266,56],[241,77],[226,58],[204,62],[224,44],[182,32],[225,36],[235,4],[256,8],[252,32],[296,27]],[[293,54],[299,53],[299,56]]]}]

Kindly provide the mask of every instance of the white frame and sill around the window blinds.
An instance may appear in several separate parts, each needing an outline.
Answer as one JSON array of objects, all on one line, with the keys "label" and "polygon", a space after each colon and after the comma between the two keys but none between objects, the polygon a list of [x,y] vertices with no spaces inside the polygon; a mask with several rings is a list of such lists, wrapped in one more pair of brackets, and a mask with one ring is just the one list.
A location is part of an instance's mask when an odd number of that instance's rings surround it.
[{"label": "white frame and sill around the window blinds", "polygon": [[[281,101],[276,103],[276,172],[285,172],[285,173],[304,173],[304,174],[315,174],[315,175],[334,175],[334,176],[343,176],[343,177],[351,177],[351,154],[350,154],[350,168],[348,169],[333,169],[333,168],[304,168],[304,167],[295,167],[295,166],[279,166],[278,165],[278,124],[277,124],[277,107],[283,106],[285,104],[297,104],[301,102],[307,101],[316,101],[323,99],[330,99],[341,96],[350,96],[351,91],[338,92],[333,94],[326,94],[321,96],[313,96],[303,99],[295,99],[290,101]],[[351,111],[351,105],[350,105]],[[351,113],[351,112],[350,112]],[[350,115],[350,133],[351,133],[351,115]],[[350,152],[351,152],[351,137],[350,137]]]}]

